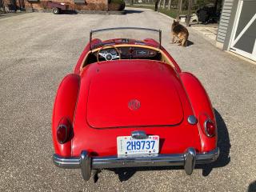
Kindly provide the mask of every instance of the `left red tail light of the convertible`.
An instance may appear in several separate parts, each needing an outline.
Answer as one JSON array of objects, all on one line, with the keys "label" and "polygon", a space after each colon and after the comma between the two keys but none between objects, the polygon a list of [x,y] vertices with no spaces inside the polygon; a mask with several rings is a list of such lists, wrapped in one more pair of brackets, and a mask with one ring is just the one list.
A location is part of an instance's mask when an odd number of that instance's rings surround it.
[{"label": "left red tail light of the convertible", "polygon": [[72,128],[70,121],[66,118],[62,118],[62,120],[58,124],[57,129],[57,139],[58,142],[63,144],[70,140],[72,136]]}]

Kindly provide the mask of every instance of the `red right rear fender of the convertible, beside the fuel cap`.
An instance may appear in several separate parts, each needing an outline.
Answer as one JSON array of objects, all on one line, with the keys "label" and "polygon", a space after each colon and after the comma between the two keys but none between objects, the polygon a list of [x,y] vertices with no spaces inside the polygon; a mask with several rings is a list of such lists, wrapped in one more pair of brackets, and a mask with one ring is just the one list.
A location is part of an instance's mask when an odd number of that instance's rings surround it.
[{"label": "red right rear fender of the convertible, beside the fuel cap", "polygon": [[217,127],[214,110],[210,103],[210,98],[203,88],[201,82],[198,78],[194,77],[193,74],[182,72],[180,73],[180,78],[185,87],[186,94],[190,99],[190,104],[194,110],[194,115],[198,118],[198,132],[201,138],[202,151],[207,152],[214,150],[217,144],[217,130],[216,135],[212,138],[206,136],[204,131],[204,121],[210,118]]}]

